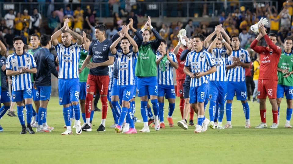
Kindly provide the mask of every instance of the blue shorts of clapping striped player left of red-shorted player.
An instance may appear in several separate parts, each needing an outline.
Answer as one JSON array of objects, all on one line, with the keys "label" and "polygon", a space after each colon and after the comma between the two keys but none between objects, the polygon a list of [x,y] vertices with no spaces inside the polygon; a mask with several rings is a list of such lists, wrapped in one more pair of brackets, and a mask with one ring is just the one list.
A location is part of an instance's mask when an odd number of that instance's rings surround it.
[{"label": "blue shorts of clapping striped player left of red-shorted player", "polygon": [[70,104],[79,99],[79,79],[58,79],[59,104]]}]

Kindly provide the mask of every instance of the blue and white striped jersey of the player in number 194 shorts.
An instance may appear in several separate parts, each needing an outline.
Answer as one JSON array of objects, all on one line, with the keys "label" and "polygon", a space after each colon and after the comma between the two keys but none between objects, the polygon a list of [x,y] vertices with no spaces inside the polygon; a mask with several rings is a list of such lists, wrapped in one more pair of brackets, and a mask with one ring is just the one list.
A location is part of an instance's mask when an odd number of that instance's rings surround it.
[{"label": "blue and white striped jersey of the player in number 194 shorts", "polygon": [[[227,65],[234,63],[233,57],[240,59],[242,63],[250,63],[250,57],[247,50],[239,49],[232,51],[232,54],[228,57]],[[245,68],[241,66],[236,66],[227,71],[227,81],[240,82],[245,81]]]}]

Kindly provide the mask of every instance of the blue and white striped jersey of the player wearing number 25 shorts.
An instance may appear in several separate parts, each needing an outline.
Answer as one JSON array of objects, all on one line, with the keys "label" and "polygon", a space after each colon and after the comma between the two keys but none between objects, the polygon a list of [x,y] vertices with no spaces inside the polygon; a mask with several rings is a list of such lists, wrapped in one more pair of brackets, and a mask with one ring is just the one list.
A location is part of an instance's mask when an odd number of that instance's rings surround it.
[{"label": "blue and white striped jersey of the player wearing number 25 shorts", "polygon": [[[34,56],[24,52],[22,55],[13,54],[7,57],[6,70],[18,71],[24,67],[36,68],[37,64],[34,60]],[[12,76],[12,89],[13,91],[20,91],[29,89],[31,87],[31,73],[23,72],[19,75]]]}]

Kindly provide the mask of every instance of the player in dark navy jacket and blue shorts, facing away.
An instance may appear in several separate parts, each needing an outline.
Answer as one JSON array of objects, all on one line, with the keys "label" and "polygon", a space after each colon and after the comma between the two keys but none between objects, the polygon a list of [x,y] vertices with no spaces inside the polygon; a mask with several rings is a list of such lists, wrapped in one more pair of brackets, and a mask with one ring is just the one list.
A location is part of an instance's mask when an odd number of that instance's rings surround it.
[{"label": "player in dark navy jacket and blue shorts, facing away", "polygon": [[42,48],[34,53],[35,61],[39,68],[35,74],[34,89],[36,90],[39,99],[34,101],[40,101],[40,107],[38,109],[38,126],[37,132],[51,132],[52,128],[47,125],[47,106],[51,96],[51,73],[58,78],[58,72],[55,67],[54,56],[50,53],[51,48],[50,35],[41,36]]}]

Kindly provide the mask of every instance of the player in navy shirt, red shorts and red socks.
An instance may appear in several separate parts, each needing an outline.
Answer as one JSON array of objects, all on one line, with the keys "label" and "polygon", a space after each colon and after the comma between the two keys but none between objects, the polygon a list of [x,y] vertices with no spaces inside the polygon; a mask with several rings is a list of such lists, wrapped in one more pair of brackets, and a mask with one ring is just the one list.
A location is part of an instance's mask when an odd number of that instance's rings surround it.
[{"label": "player in navy shirt, red shorts and red socks", "polygon": [[[85,96],[85,119],[86,124],[82,128],[86,131],[91,131],[90,114],[92,111],[93,95],[100,89],[101,103],[102,103],[102,120],[98,132],[105,131],[105,121],[107,117],[108,103],[107,94],[109,86],[109,65],[114,63],[114,56],[110,51],[111,41],[105,38],[106,26],[95,26],[96,40],[93,40],[89,46],[88,56],[85,58],[79,71],[82,71],[85,66],[89,68],[89,75],[86,82],[86,96]],[[92,63],[89,61],[92,59]]]}]

